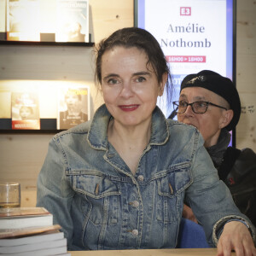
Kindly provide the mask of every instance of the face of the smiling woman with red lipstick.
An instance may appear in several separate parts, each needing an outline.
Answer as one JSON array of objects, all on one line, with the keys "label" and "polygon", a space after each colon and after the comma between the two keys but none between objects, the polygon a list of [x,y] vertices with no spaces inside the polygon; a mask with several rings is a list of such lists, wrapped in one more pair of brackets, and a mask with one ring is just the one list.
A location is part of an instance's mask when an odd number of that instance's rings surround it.
[{"label": "face of the smiling woman with red lipstick", "polygon": [[[166,84],[158,84],[148,57],[141,49],[116,46],[102,55],[102,94],[108,111],[121,125],[150,122],[157,96]],[[166,77],[166,76],[164,76]]]}]

